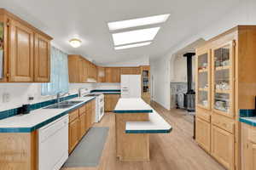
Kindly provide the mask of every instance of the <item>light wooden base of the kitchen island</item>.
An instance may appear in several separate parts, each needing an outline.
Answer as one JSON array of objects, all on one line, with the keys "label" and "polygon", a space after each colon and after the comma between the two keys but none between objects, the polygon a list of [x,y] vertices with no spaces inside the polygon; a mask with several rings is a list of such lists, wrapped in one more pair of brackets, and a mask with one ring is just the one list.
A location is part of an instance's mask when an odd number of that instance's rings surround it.
[{"label": "light wooden base of the kitchen island", "polygon": [[149,134],[125,133],[126,122],[148,122],[148,113],[115,114],[116,156],[120,161],[149,161]]}]

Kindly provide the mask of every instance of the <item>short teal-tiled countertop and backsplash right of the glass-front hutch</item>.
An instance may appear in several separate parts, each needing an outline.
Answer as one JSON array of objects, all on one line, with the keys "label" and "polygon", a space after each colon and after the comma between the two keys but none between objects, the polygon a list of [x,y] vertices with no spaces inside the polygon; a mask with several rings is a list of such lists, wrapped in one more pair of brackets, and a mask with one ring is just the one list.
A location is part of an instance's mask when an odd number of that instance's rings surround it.
[{"label": "short teal-tiled countertop and backsplash right of the glass-front hutch", "polygon": [[240,110],[239,115],[239,122],[256,127],[256,110]]}]

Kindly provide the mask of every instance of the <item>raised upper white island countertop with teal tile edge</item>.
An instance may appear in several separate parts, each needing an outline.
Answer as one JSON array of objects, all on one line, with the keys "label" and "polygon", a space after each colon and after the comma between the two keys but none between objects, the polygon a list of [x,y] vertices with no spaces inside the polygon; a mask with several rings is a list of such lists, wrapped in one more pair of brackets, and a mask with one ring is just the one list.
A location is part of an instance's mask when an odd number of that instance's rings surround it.
[{"label": "raised upper white island countertop with teal tile edge", "polygon": [[114,113],[152,113],[153,109],[141,98],[120,98]]}]

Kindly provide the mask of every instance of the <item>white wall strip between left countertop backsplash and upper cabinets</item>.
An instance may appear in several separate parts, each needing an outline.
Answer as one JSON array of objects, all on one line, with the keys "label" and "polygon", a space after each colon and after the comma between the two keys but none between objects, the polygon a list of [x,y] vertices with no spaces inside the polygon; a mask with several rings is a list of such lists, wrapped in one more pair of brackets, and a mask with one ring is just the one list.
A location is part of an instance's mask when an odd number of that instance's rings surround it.
[{"label": "white wall strip between left countertop backsplash and upper cabinets", "polygon": [[[79,88],[94,89],[96,84],[69,84],[69,93],[78,94]],[[9,94],[9,102],[3,103],[3,94]],[[42,96],[41,83],[0,83],[0,111],[20,107],[28,102],[28,97],[34,97],[31,103],[55,99],[56,96]]]}]

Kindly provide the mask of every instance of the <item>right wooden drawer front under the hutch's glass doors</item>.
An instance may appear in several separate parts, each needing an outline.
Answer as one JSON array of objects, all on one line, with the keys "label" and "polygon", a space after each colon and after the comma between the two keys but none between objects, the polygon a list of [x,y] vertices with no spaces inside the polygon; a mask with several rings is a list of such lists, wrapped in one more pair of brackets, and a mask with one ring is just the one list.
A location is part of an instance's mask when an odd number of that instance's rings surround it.
[{"label": "right wooden drawer front under the hutch's glass doors", "polygon": [[212,124],[234,134],[234,122],[220,116],[212,116]]}]

